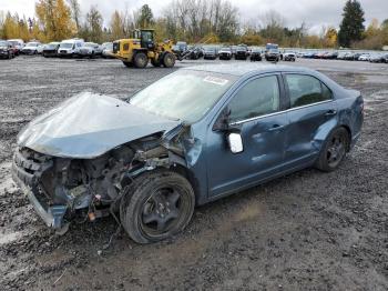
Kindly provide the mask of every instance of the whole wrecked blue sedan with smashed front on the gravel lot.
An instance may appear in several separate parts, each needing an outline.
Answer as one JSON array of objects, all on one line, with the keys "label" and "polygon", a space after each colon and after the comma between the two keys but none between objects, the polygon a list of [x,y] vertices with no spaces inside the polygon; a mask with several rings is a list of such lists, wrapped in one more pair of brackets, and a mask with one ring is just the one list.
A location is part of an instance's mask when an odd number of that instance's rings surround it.
[{"label": "whole wrecked blue sedan with smashed front on the gravel lot", "polygon": [[81,93],[18,136],[13,179],[48,227],[120,213],[139,243],[182,231],[194,207],[316,167],[360,136],[364,101],[276,64],[177,70],[129,100]]}]

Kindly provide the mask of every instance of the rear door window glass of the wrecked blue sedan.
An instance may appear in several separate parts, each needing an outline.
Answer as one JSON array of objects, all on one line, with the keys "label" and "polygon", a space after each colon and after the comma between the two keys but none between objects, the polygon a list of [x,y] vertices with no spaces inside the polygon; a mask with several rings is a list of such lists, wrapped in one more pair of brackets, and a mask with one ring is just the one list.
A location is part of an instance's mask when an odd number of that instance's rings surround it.
[{"label": "rear door window glass of the wrecked blue sedan", "polygon": [[286,74],[290,107],[308,106],[331,99],[331,91],[318,79],[307,74]]}]

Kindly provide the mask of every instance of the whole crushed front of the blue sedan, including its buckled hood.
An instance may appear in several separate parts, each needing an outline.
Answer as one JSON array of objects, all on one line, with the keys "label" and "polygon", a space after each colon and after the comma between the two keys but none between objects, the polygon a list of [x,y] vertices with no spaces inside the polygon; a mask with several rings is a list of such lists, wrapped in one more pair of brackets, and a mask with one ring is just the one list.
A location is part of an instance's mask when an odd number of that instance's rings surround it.
[{"label": "whole crushed front of the blue sedan, including its buckled hood", "polygon": [[187,167],[190,136],[180,121],[81,93],[21,131],[12,175],[45,224],[62,229],[116,211],[124,188],[145,171]]}]

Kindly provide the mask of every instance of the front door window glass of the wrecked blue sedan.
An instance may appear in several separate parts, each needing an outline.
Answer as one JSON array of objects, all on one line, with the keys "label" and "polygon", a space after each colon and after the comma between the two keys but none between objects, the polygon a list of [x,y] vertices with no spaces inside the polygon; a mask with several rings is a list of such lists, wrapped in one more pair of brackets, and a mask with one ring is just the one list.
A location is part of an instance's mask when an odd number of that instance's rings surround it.
[{"label": "front door window glass of the wrecked blue sedan", "polygon": [[237,122],[278,111],[279,87],[276,76],[249,81],[235,94],[228,108],[231,122]]}]

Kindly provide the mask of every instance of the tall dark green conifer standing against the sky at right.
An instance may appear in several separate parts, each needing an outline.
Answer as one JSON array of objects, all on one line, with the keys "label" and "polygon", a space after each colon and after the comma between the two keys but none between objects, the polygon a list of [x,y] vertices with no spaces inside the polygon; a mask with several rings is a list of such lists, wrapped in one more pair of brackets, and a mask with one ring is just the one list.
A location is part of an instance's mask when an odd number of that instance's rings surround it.
[{"label": "tall dark green conifer standing against the sky at right", "polygon": [[350,47],[359,41],[365,31],[364,10],[357,0],[348,0],[344,7],[343,21],[339,26],[338,42],[341,47]]}]

